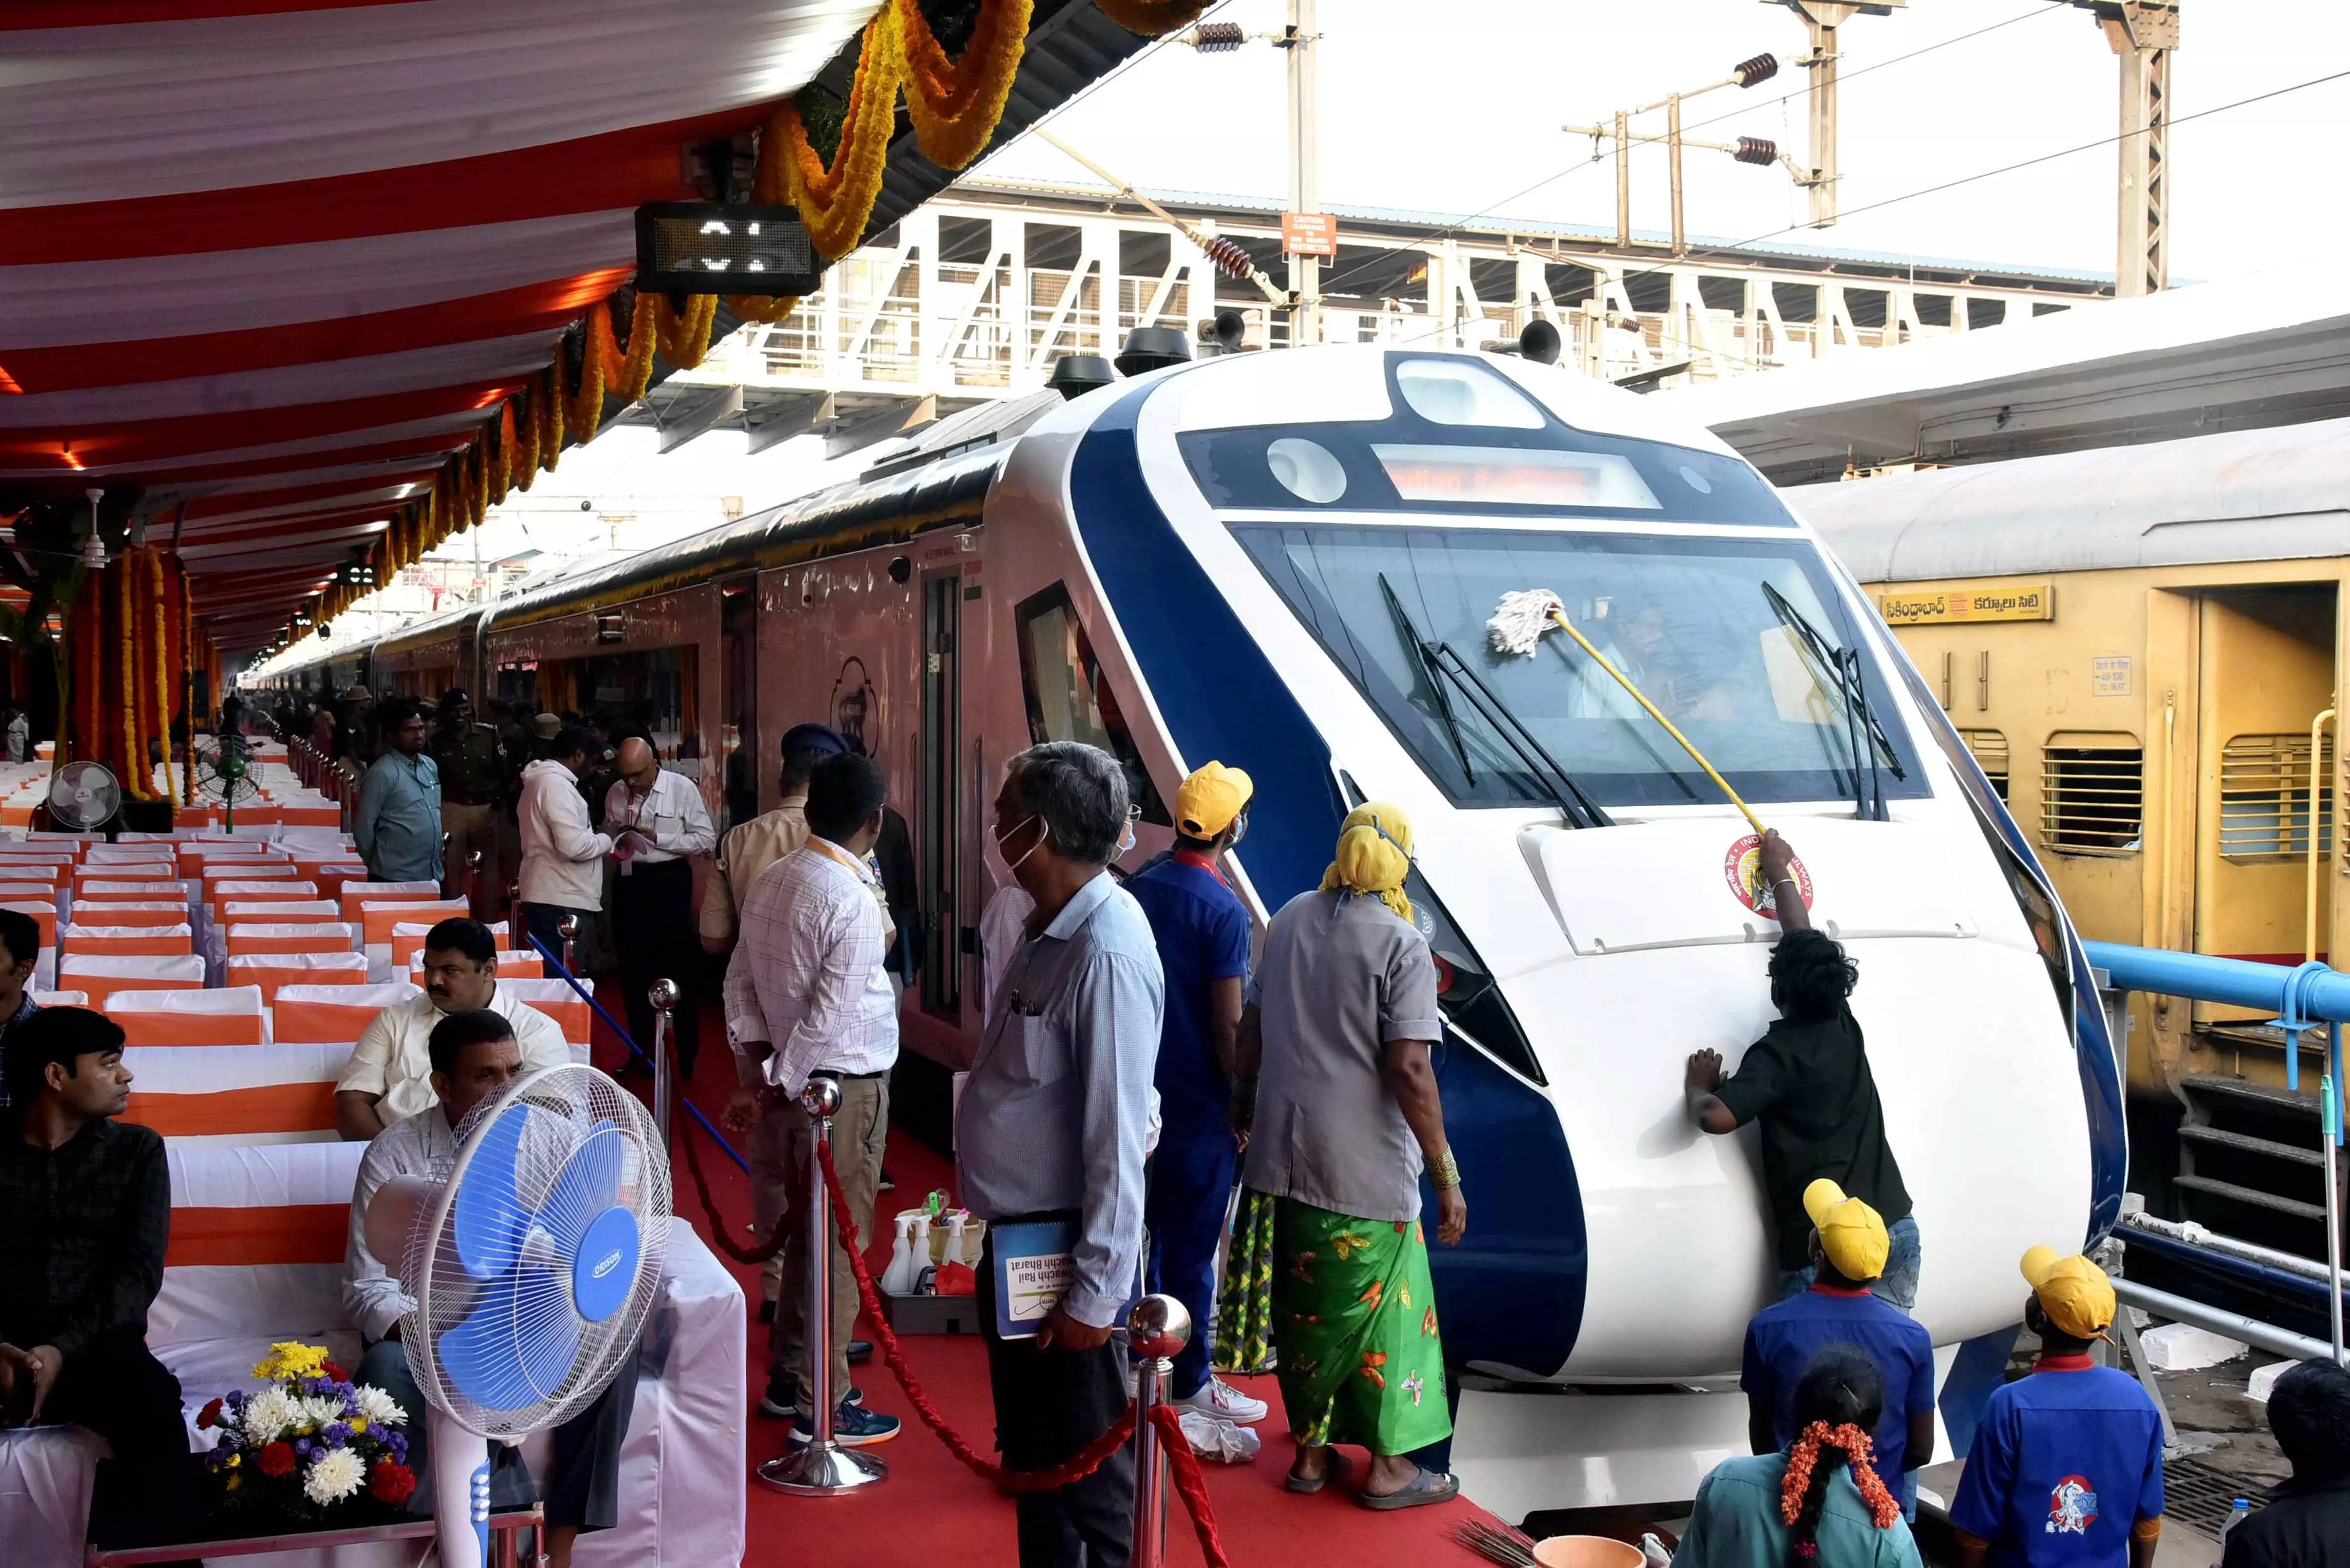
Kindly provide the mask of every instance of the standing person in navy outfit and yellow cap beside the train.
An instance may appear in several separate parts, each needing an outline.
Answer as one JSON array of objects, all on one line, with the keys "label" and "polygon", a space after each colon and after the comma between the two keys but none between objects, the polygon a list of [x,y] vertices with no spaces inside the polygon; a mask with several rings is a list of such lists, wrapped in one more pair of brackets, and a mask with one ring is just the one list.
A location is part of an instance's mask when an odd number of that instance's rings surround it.
[{"label": "standing person in navy outfit and yellow cap beside the train", "polygon": [[1215,1324],[1215,1255],[1238,1178],[1231,1135],[1231,1063],[1248,980],[1248,905],[1224,882],[1217,856],[1248,830],[1255,785],[1210,762],[1175,792],[1175,851],[1126,882],[1159,940],[1166,1018],[1159,1034],[1159,1152],[1152,1157],[1144,1225],[1149,1288],[1191,1312],[1191,1342],[1175,1356],[1175,1403],[1220,1420],[1264,1420],[1250,1399],[1208,1373]]}]

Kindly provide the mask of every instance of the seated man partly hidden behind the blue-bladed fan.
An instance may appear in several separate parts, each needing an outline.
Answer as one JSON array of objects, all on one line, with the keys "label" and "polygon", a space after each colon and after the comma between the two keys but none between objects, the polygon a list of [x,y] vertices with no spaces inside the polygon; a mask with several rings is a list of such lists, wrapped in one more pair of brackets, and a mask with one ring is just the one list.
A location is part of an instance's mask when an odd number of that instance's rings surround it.
[{"label": "seated man partly hidden behind the blue-bladed fan", "polygon": [[[526,1072],[531,1063],[515,1044],[515,1032],[501,1013],[486,1009],[449,1013],[432,1027],[432,1103],[395,1121],[367,1145],[360,1180],[350,1192],[350,1239],[343,1244],[343,1316],[360,1326],[367,1354],[355,1382],[390,1394],[407,1425],[409,1469],[416,1472],[411,1514],[432,1512],[432,1465],[425,1455],[425,1396],[409,1371],[409,1352],[400,1342],[400,1319],[416,1305],[383,1262],[367,1251],[367,1206],[376,1187],[395,1175],[437,1175],[456,1154],[456,1131],[482,1100],[496,1098]],[[620,1373],[595,1401],[555,1429],[555,1453],[545,1474],[548,1561],[571,1566],[571,1544],[580,1530],[609,1530],[620,1523],[620,1443],[637,1406],[637,1356],[620,1361]],[[491,1443],[491,1505],[529,1507],[531,1476],[522,1453]]]}]

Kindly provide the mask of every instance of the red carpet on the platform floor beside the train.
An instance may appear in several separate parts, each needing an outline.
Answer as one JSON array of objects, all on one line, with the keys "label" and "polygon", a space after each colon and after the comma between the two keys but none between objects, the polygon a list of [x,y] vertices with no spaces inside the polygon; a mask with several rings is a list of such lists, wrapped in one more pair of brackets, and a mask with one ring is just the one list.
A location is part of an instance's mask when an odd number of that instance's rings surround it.
[{"label": "red carpet on the platform floor beside the train", "polygon": [[[606,1006],[618,1001],[613,985],[599,987]],[[616,1067],[620,1046],[606,1039],[597,1025],[597,1065]],[[691,1098],[712,1121],[726,1105],[733,1088],[733,1063],[726,1056],[726,1032],[717,1013],[703,1016],[703,1058],[691,1084]],[[642,1086],[642,1079],[632,1079]],[[693,1128],[679,1135],[705,1138]],[[703,1168],[719,1208],[738,1229],[750,1234],[750,1182],[731,1159],[707,1140],[703,1143]],[[933,1187],[954,1190],[954,1168],[940,1154],[921,1147],[912,1138],[893,1135],[888,1150],[888,1173],[898,1182],[886,1192],[884,1206],[912,1208]],[[689,1215],[703,1237],[710,1237],[710,1220],[700,1213],[693,1182],[679,1161],[677,1208]],[[895,1211],[891,1211],[895,1213]],[[867,1258],[874,1274],[888,1262],[888,1244],[870,1244]],[[724,1253],[721,1253],[724,1260]],[[750,1467],[757,1469],[785,1448],[785,1422],[759,1415],[754,1401],[766,1387],[766,1331],[757,1324],[759,1276],[757,1269],[728,1265],[743,1281],[750,1302],[750,1373],[743,1389],[750,1413]],[[870,1324],[858,1324],[860,1338],[874,1338]],[[905,1340],[907,1361],[924,1382],[938,1408],[954,1422],[973,1448],[992,1453],[992,1401],[987,1394],[987,1352],[978,1338],[912,1335]],[[766,1490],[745,1472],[750,1488],[750,1549],[743,1561],[750,1568],[799,1568],[801,1563],[853,1563],[855,1568],[1013,1568],[1013,1505],[992,1486],[964,1469],[947,1448],[914,1418],[898,1380],[881,1359],[855,1368],[865,1403],[886,1410],[905,1422],[900,1436],[867,1453],[888,1465],[888,1479],[851,1497],[785,1497]],[[1332,1486],[1318,1497],[1295,1497],[1281,1488],[1281,1476],[1290,1462],[1288,1427],[1281,1420],[1281,1389],[1274,1378],[1238,1380],[1248,1394],[1274,1406],[1271,1418],[1257,1425],[1264,1436],[1264,1453],[1250,1465],[1206,1465],[1208,1493],[1215,1502],[1217,1528],[1224,1537],[1224,1554],[1234,1568],[1267,1568],[1271,1563],[1347,1563],[1347,1568],[1429,1568],[1445,1563],[1476,1563],[1464,1547],[1452,1540],[1452,1530],[1471,1519],[1485,1516],[1469,1502],[1448,1502],[1401,1514],[1372,1514],[1354,1502],[1354,1493]],[[1354,1450],[1356,1474],[1365,1455]],[[1191,1535],[1191,1521],[1182,1500],[1168,1495],[1168,1552],[1175,1568],[1198,1568],[1201,1549]]]}]

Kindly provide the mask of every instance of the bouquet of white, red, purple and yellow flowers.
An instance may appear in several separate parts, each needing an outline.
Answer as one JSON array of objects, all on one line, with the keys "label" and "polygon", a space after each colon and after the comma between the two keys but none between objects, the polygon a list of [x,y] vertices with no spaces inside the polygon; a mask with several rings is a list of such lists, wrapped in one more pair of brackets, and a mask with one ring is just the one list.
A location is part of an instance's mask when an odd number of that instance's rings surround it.
[{"label": "bouquet of white, red, purple and yellow flowers", "polygon": [[195,1425],[219,1434],[204,1455],[230,1509],[310,1523],[369,1523],[416,1490],[407,1413],[378,1387],[352,1385],[322,1345],[270,1345],[254,1366],[270,1387],[221,1394]]}]

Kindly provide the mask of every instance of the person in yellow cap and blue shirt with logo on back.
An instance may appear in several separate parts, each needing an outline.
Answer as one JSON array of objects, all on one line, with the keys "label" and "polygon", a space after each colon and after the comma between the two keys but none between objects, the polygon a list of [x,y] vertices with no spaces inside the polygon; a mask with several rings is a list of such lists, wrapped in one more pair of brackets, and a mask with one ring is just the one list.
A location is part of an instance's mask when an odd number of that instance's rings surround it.
[{"label": "person in yellow cap and blue shirt with logo on back", "polygon": [[2162,1415],[2138,1380],[2089,1359],[2113,1281],[2052,1246],[2023,1253],[2023,1326],[2040,1366],[1990,1396],[1950,1523],[1962,1568],[2153,1568],[2162,1540]]}]

